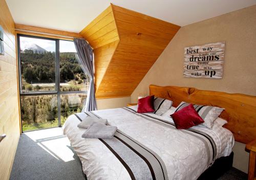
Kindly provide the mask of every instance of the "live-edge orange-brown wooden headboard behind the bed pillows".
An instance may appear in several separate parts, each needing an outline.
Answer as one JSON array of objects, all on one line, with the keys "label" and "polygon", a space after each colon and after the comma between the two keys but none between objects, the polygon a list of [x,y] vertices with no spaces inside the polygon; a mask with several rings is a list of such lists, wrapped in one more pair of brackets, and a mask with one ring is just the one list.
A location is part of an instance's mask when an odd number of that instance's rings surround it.
[{"label": "live-edge orange-brown wooden headboard behind the bed pillows", "polygon": [[233,133],[236,141],[246,144],[256,139],[256,96],[156,85],[150,85],[150,95],[172,100],[174,107],[181,101],[223,107],[220,117],[228,121],[224,127]]}]

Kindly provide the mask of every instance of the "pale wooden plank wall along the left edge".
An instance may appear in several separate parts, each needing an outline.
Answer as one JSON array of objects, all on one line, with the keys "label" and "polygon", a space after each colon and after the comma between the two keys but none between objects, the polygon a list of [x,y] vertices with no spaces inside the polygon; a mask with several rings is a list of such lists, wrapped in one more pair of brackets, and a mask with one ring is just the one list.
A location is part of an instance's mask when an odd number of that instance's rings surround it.
[{"label": "pale wooden plank wall along the left edge", "polygon": [[9,179],[19,139],[19,107],[15,24],[4,0],[0,0],[0,25],[4,29],[5,55],[0,55],[0,179]]}]

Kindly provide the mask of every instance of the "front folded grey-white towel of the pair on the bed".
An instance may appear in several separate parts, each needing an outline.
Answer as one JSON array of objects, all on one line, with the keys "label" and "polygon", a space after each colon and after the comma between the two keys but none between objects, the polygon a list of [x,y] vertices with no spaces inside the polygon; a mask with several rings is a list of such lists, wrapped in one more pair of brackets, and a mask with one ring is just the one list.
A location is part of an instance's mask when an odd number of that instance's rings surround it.
[{"label": "front folded grey-white towel of the pair on the bed", "polygon": [[94,122],[82,134],[82,138],[112,139],[114,137],[116,130],[116,126],[108,126]]}]

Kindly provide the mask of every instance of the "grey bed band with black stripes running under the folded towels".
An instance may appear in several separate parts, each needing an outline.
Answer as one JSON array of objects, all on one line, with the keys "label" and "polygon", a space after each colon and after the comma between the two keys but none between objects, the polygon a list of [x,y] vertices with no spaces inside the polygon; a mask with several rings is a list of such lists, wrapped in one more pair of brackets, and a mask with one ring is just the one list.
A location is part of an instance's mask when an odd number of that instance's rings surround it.
[{"label": "grey bed band with black stripes running under the folded towels", "polygon": [[[101,118],[92,111],[88,116]],[[79,121],[81,118],[75,114]],[[113,139],[99,139],[122,163],[131,179],[159,179],[167,180],[167,170],[157,153],[145,147],[119,129]]]}]

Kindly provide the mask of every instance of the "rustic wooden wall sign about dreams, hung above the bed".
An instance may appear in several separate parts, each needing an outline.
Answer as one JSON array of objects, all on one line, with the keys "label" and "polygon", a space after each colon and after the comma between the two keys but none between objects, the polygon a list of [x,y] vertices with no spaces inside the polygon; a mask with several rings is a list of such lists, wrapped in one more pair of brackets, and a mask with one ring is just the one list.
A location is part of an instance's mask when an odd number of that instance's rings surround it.
[{"label": "rustic wooden wall sign about dreams, hung above the bed", "polygon": [[225,42],[186,47],[184,49],[184,77],[221,79]]}]

